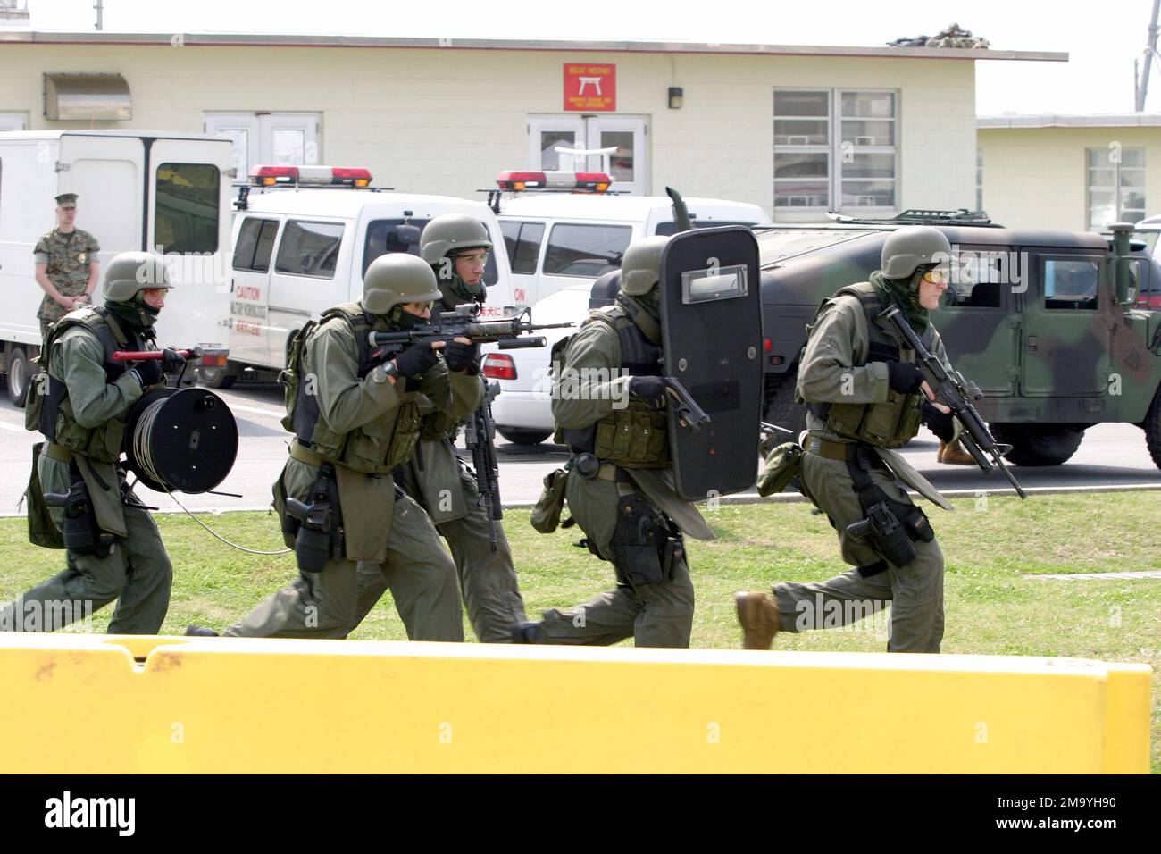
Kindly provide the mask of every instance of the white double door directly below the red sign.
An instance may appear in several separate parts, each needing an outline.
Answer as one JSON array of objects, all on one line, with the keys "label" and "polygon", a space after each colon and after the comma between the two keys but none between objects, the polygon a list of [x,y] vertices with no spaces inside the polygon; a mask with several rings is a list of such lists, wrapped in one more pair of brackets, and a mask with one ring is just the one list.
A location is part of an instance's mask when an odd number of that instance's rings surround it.
[{"label": "white double door directly below the red sign", "polygon": [[614,149],[608,153],[613,189],[633,195],[648,193],[648,135],[644,116],[540,115],[528,117],[528,164],[543,170],[601,170],[604,157],[578,158],[557,148]]}]

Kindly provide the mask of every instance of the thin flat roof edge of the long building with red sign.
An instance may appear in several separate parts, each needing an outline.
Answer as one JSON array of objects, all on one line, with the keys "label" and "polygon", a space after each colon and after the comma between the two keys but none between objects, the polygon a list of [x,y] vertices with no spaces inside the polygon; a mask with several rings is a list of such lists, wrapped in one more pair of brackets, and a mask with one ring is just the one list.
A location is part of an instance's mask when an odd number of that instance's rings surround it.
[{"label": "thin flat roof edge of the long building with red sign", "polygon": [[880,59],[1017,59],[1068,62],[1068,53],[1036,50],[966,48],[860,48],[806,44],[720,44],[715,42],[580,41],[521,38],[396,38],[385,36],[316,36],[272,33],[52,33],[0,31],[0,43],[117,44],[204,48],[418,48],[434,50],[555,50],[611,51],[619,53],[735,53],[740,56],[834,56]]}]

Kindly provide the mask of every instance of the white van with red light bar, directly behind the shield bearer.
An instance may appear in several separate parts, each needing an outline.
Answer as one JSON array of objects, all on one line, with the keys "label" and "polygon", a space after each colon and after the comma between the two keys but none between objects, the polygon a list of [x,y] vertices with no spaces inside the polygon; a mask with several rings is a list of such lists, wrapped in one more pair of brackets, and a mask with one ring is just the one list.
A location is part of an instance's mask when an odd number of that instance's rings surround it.
[{"label": "white van with red light bar, directly behind the shield bearer", "polygon": [[[556,173],[506,172],[497,181],[502,189],[519,184],[553,185],[543,175]],[[601,173],[576,173],[585,179]],[[519,180],[519,179],[525,180]],[[585,186],[591,180],[582,181]],[[597,186],[607,186],[608,179]],[[614,185],[615,186],[615,185]],[[758,225],[769,222],[757,204],[722,199],[686,199],[694,227]],[[611,195],[600,192],[521,193],[499,198],[504,245],[512,267],[515,303],[534,306],[562,288],[591,285],[603,273],[621,265],[630,242],[651,235],[672,235],[673,204],[668,196]]]}]

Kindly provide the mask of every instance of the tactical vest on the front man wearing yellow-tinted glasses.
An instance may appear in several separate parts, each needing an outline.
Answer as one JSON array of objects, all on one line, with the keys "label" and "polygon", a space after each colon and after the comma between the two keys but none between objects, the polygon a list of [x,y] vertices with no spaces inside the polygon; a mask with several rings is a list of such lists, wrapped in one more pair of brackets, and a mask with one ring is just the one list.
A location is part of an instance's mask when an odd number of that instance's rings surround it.
[{"label": "tactical vest on the front man wearing yellow-tinted glasses", "polygon": [[[885,307],[873,285],[870,282],[848,285],[835,293],[836,297],[843,295],[857,297],[867,318],[870,343],[866,358],[854,367],[861,367],[868,361],[915,361],[914,351],[909,347],[901,350],[894,332],[888,333],[875,323],[875,318],[884,313]],[[935,335],[935,326],[928,324],[922,340],[929,351]],[[827,430],[838,436],[879,447],[900,447],[920,431],[923,421],[923,400],[922,392],[900,394],[888,388],[887,400],[882,403],[808,403],[807,408],[827,423]]]}]

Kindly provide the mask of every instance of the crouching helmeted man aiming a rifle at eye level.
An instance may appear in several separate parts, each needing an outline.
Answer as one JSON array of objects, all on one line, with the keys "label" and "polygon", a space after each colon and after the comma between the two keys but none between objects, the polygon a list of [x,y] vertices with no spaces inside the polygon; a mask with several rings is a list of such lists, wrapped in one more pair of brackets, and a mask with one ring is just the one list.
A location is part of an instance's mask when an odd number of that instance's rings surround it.
[{"label": "crouching helmeted man aiming a rifle at eye level", "polygon": [[[457,338],[446,346],[412,345],[384,360],[368,340],[372,330],[426,320],[438,299],[423,260],[382,256],[367,268],[360,302],[327,309],[302,333],[302,357],[291,363],[297,389],[288,394],[283,421],[293,423],[295,439],[274,485],[274,507],[301,572],[223,634],[345,638],[360,617],[356,561],[369,561],[411,640],[463,640],[455,567],[427,515],[396,490],[391,469],[414,452],[420,395],[450,418],[479,406],[479,379],[466,372],[475,347]],[[295,518],[289,500],[313,512]],[[214,632],[190,626],[186,633]]]}]

